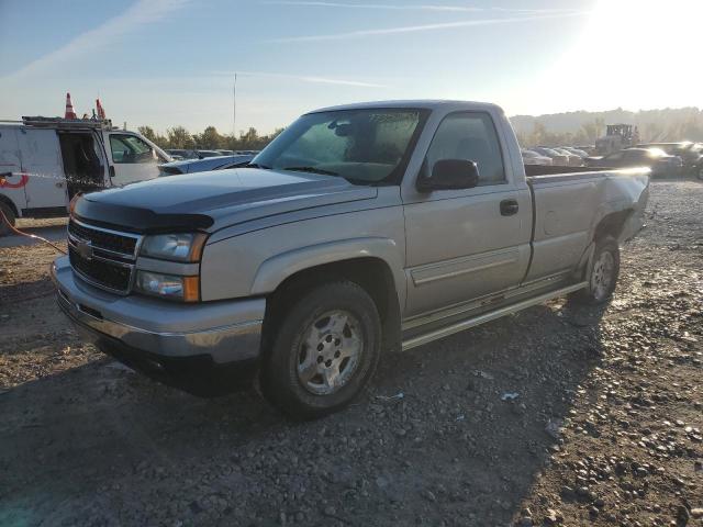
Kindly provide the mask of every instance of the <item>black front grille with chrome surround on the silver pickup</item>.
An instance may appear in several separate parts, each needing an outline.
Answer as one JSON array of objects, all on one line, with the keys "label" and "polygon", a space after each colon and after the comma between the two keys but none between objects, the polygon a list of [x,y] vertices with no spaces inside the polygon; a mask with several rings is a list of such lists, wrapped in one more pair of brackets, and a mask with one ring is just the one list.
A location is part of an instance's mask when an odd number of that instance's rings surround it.
[{"label": "black front grille with chrome surround on the silver pickup", "polygon": [[140,236],[70,220],[68,256],[76,274],[112,292],[127,294],[135,272]]}]

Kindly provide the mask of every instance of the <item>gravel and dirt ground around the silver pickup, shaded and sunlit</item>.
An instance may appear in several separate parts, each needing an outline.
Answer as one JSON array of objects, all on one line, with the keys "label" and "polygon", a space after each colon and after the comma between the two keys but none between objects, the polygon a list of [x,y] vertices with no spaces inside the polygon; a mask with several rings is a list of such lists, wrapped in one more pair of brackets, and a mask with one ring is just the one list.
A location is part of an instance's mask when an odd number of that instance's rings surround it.
[{"label": "gravel and dirt ground around the silver pickup, shaded and sunlit", "polygon": [[605,309],[389,356],[292,424],[82,345],[53,250],[0,249],[0,525],[703,526],[703,183],[657,181]]}]

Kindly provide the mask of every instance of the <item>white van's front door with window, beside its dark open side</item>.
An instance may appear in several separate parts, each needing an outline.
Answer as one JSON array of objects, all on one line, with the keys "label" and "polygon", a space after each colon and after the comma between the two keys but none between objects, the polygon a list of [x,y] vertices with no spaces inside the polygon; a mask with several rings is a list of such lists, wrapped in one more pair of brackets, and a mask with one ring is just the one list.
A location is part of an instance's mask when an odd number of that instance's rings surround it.
[{"label": "white van's front door with window, beside its dark open side", "polygon": [[111,184],[121,186],[158,177],[158,155],[141,137],[127,133],[110,133],[109,155],[114,170]]}]

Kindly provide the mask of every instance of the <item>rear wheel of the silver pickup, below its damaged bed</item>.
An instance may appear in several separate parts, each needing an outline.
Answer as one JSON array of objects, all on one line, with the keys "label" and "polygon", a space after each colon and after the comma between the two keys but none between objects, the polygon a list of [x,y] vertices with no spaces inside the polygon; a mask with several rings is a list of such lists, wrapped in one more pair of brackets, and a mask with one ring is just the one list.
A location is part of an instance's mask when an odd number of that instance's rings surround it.
[{"label": "rear wheel of the silver pickup, below its damaged bed", "polygon": [[604,304],[613,295],[620,274],[620,246],[612,236],[595,242],[595,251],[585,280],[588,287],[569,296],[570,300],[589,305]]}]

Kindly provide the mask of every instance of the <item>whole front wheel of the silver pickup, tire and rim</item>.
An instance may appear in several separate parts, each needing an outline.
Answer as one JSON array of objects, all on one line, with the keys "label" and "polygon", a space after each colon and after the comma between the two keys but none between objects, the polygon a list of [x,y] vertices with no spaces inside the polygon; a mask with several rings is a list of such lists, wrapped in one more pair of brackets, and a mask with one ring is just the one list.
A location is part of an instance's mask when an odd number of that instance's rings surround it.
[{"label": "whole front wheel of the silver pickup, tire and rim", "polygon": [[267,338],[264,396],[288,416],[311,419],[349,404],[380,357],[376,303],[356,283],[327,282],[287,303]]}]

